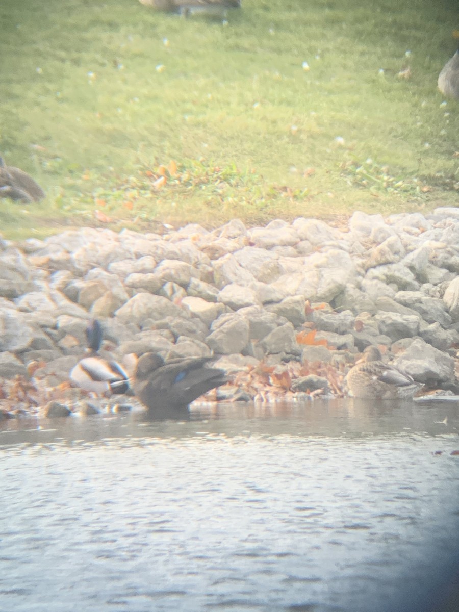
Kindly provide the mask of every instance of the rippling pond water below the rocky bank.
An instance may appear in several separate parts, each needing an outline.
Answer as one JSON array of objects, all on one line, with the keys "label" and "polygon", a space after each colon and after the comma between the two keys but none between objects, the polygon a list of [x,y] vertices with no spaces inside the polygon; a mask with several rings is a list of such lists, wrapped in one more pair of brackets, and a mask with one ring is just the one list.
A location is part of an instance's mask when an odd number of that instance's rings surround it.
[{"label": "rippling pond water below the rocky bank", "polygon": [[1,425],[1,612],[459,610],[455,402]]}]

